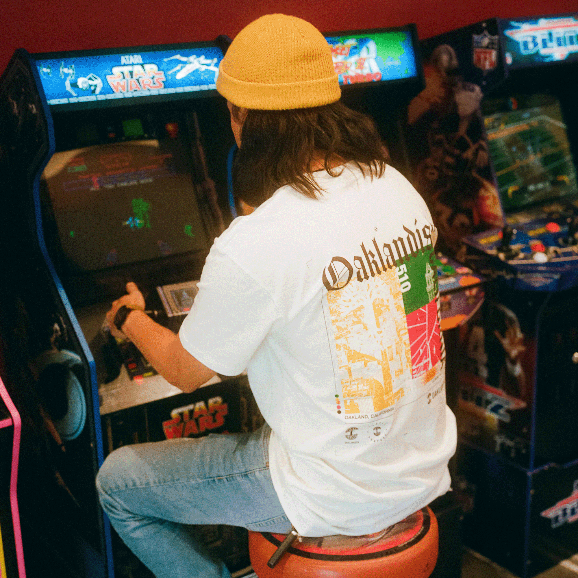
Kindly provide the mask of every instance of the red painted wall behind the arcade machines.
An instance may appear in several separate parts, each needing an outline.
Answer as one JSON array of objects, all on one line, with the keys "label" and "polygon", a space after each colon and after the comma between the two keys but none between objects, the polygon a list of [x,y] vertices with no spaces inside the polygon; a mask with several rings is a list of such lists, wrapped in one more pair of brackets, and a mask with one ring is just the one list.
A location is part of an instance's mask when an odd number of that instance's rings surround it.
[{"label": "red painted wall behind the arcade machines", "polygon": [[492,16],[572,12],[576,0],[3,0],[0,71],[17,48],[29,52],[233,38],[262,14],[282,12],[321,31],[379,28],[414,22],[420,38]]}]

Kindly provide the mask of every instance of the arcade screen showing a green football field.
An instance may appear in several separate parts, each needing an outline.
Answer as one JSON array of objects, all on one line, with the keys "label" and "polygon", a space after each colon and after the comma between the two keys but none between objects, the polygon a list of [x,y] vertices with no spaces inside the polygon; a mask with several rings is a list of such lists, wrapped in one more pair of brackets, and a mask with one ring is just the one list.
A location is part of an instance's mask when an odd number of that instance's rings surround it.
[{"label": "arcade screen showing a green football field", "polygon": [[546,95],[495,99],[484,102],[484,114],[506,212],[578,194],[558,101]]}]

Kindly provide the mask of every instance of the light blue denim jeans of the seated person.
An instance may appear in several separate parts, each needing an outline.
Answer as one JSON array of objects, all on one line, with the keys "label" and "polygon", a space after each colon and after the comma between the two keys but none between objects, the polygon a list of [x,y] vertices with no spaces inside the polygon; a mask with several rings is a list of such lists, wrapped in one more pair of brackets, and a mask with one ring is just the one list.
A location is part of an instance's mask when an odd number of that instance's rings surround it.
[{"label": "light blue denim jeans of the seated person", "polygon": [[125,544],[157,578],[230,578],[183,524],[288,533],[269,474],[268,425],[124,446],[98,472],[101,504]]}]

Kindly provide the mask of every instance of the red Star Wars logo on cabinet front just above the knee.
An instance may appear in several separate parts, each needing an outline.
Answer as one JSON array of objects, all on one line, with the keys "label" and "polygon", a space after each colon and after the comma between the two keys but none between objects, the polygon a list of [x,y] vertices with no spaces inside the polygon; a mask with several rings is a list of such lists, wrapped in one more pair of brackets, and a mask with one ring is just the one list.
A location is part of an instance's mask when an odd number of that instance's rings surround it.
[{"label": "red Star Wars logo on cabinet front just above the knee", "polygon": [[188,438],[189,436],[209,433],[210,430],[225,425],[225,416],[229,413],[227,403],[220,396],[204,401],[176,407],[171,419],[162,422],[162,431],[166,439]]}]

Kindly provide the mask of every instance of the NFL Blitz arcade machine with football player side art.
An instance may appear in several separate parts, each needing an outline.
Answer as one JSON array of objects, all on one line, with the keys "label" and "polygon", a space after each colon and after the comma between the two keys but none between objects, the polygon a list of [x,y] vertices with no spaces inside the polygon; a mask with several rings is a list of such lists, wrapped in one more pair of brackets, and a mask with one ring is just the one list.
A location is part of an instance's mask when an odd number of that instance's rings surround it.
[{"label": "NFL Blitz arcade machine with football player side art", "polygon": [[563,14],[424,40],[406,119],[442,243],[493,279],[460,332],[458,473],[465,542],[520,576],[578,551],[577,34]]}]

